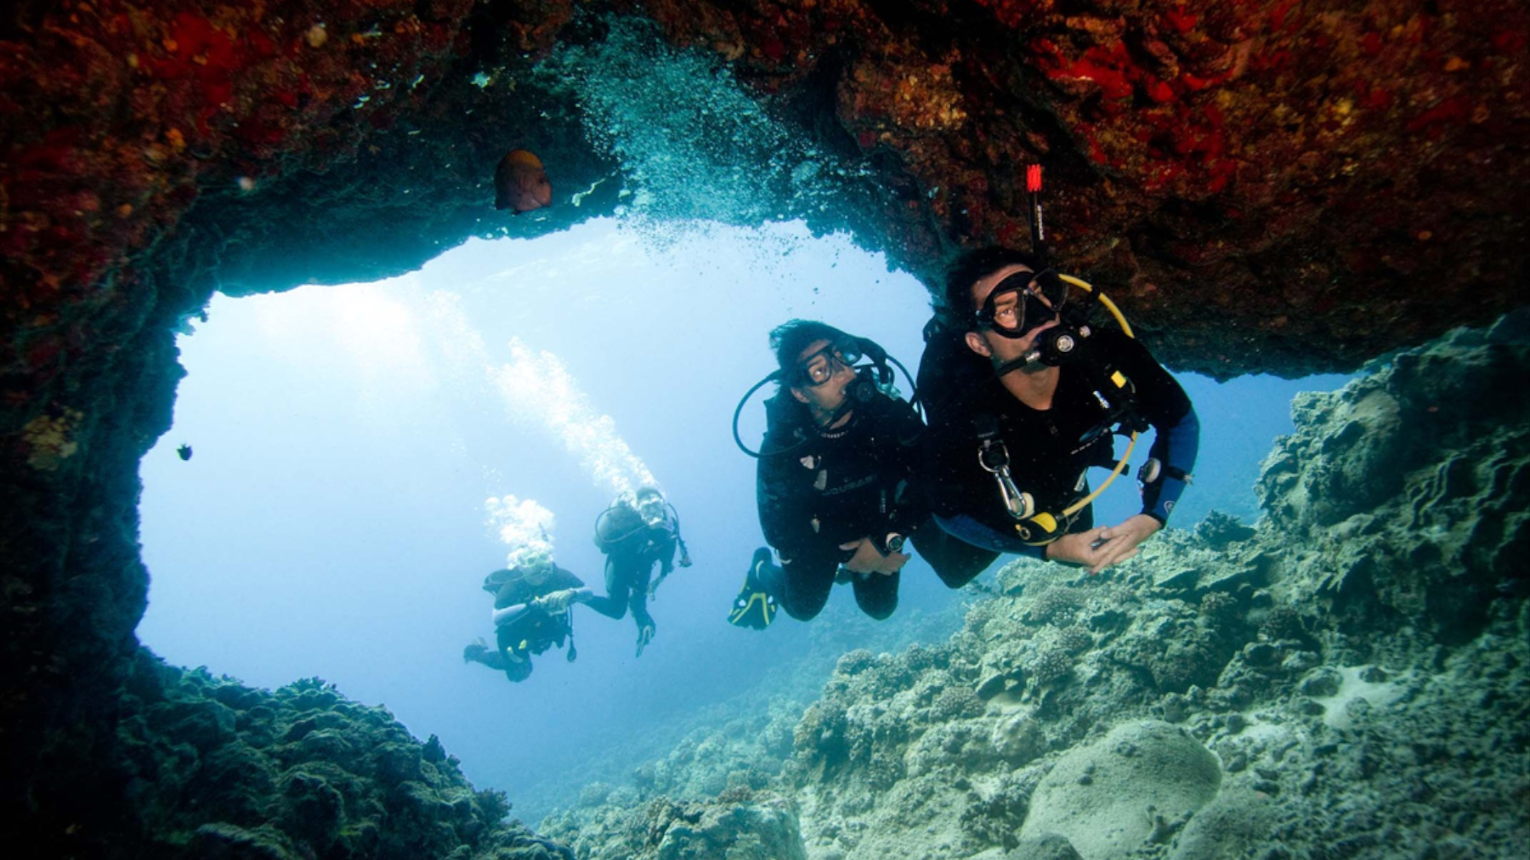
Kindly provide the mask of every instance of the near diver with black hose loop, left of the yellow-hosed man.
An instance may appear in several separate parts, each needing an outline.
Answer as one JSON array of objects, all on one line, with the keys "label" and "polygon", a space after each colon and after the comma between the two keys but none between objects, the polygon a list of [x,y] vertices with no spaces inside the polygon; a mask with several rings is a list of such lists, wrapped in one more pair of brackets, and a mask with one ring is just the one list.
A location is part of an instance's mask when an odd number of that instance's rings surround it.
[{"label": "near diver with black hose loop, left of the yellow-hosed man", "polygon": [[[806,621],[823,609],[835,581],[852,585],[863,612],[887,618],[898,606],[906,540],[936,566],[979,557],[947,540],[912,490],[924,422],[897,396],[887,367],[897,360],[820,321],[791,320],[771,332],[770,344],[779,369],[739,402],[734,441],[759,458],[760,526],[780,565],[771,563],[770,549],[754,552],[728,621],[763,629],[777,608]],[[861,358],[871,364],[858,364]],[[737,436],[737,415],[771,381],[779,389],[765,401],[765,439],[751,451]]]}]

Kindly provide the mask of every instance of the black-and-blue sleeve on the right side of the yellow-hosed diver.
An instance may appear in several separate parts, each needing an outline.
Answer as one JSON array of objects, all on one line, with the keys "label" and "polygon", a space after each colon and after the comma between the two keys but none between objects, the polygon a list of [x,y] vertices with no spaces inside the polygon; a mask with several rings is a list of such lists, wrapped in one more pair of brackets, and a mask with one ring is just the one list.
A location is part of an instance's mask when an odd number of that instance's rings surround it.
[{"label": "black-and-blue sleeve on the right side of the yellow-hosed diver", "polygon": [[1121,335],[1123,369],[1137,386],[1143,416],[1157,432],[1149,456],[1160,464],[1158,476],[1143,484],[1143,511],[1160,523],[1184,494],[1201,448],[1201,421],[1190,396],[1141,343]]}]

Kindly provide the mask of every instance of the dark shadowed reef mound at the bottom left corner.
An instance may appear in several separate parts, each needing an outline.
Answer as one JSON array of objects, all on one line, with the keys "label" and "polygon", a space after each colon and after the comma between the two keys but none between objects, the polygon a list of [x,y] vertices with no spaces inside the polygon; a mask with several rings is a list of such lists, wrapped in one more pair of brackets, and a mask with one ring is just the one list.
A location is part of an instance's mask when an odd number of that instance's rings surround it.
[{"label": "dark shadowed reef mound at the bottom left corner", "polygon": [[[415,741],[387,710],[317,678],[256,690],[144,650],[116,710],[115,733],[75,741],[98,791],[121,787],[135,819],[81,805],[67,839],[37,855],[106,842],[115,855],[156,857],[571,857],[506,823],[503,794],[474,791],[435,738]],[[38,790],[78,791],[76,779],[64,771]]]}]

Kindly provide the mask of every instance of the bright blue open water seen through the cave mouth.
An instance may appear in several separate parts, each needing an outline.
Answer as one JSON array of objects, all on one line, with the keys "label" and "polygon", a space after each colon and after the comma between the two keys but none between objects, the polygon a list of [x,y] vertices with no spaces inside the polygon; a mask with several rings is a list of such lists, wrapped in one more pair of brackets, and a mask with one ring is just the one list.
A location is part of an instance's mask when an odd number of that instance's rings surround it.
[{"label": "bright blue open water seen through the cave mouth", "polygon": [[[139,635],[171,663],[263,687],[320,676],[384,704],[534,822],[569,800],[554,791],[563,774],[623,777],[699,710],[793,676],[831,626],[855,638],[959,621],[967,597],[920,562],[883,627],[855,618],[849,594],[812,624],[782,615],[760,634],[724,621],[760,545],[754,462],[734,448],[730,419],[771,369],[767,332],[823,318],[912,370],[927,303],[881,257],[800,225],[614,220],[473,240],[376,285],[216,297],[208,321],[181,337],[188,376],[174,427],[142,461],[151,585]],[[497,387],[511,338],[532,358],[532,381],[563,387]],[[1187,528],[1213,507],[1255,519],[1252,485],[1290,430],[1291,395],[1343,378],[1181,381],[1204,428],[1175,514]],[[756,399],[742,432],[757,442],[760,430]],[[182,442],[194,450],[185,462]],[[509,549],[485,499],[551,511],[558,563],[598,589],[592,523],[633,468],[664,487],[696,562],[653,600],[658,637],[644,655],[633,656],[630,618],[578,611],[574,664],[549,652],[519,686],[464,664],[462,646],[493,640],[479,585]],[[1118,482],[1099,505],[1097,522],[1125,519],[1135,485]],[[817,679],[797,676],[809,690]]]}]

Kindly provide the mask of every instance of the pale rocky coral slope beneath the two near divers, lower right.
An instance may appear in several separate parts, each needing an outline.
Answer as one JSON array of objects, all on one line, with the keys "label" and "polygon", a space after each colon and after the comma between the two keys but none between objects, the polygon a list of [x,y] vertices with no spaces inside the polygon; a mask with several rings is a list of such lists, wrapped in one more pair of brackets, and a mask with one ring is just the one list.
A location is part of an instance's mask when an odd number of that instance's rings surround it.
[{"label": "pale rocky coral slope beneath the two near divers, lower right", "polygon": [[[1169,529],[1103,577],[1017,562],[947,643],[846,653],[780,776],[687,803],[789,800],[812,860],[1522,857],[1530,406],[1476,393],[1530,372],[1524,324],[1454,332],[1297,402],[1253,528]],[[1401,419],[1345,430],[1374,415]],[[1441,479],[1463,461],[1469,480]],[[1356,464],[1389,473],[1363,510],[1336,477]],[[1138,767],[1155,761],[1144,725],[1184,747],[1174,779]],[[757,767],[757,748],[715,741],[693,767]],[[546,826],[603,857],[661,793]]]}]

